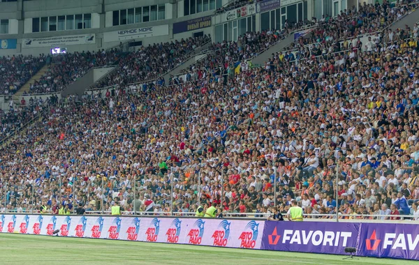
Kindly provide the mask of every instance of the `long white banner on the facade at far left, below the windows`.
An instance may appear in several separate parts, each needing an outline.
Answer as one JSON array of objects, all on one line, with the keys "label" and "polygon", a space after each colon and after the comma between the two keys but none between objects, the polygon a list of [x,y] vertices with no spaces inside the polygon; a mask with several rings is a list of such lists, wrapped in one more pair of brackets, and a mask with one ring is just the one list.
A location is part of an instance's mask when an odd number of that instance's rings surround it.
[{"label": "long white banner on the facade at far left, below the windows", "polygon": [[22,47],[51,47],[60,45],[82,45],[94,43],[96,43],[96,34],[81,34],[70,36],[55,36],[47,38],[25,38],[23,40]]}]

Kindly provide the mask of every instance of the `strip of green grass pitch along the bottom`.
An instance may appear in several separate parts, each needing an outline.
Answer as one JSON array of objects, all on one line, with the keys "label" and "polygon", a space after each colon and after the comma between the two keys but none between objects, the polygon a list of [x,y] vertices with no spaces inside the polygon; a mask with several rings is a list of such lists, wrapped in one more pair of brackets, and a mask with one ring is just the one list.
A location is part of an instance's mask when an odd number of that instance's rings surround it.
[{"label": "strip of green grass pitch along the bottom", "polygon": [[397,259],[0,234],[0,264],[419,264]]}]

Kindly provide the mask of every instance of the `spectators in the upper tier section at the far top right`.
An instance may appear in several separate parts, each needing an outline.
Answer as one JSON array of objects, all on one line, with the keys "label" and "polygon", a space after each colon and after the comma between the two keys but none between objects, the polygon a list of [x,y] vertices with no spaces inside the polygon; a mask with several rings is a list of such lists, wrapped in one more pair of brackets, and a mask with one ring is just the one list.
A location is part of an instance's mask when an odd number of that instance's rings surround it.
[{"label": "spectators in the upper tier section at the far top right", "polygon": [[[374,6],[364,3],[359,10],[353,7],[351,10],[344,10],[337,17],[323,15],[320,20],[314,20],[316,28],[288,47],[288,50],[303,51],[309,46],[315,47],[316,55],[330,54],[339,49],[348,50],[350,43],[352,48],[358,48],[361,45],[360,36],[371,33],[376,33],[374,38],[378,42],[385,40],[391,43],[392,40],[399,38],[400,31],[392,31],[389,27],[415,10],[416,4],[409,4],[410,2],[400,1],[390,4],[388,1],[383,1],[382,5],[377,2]],[[371,48],[366,45],[364,47]]]}]

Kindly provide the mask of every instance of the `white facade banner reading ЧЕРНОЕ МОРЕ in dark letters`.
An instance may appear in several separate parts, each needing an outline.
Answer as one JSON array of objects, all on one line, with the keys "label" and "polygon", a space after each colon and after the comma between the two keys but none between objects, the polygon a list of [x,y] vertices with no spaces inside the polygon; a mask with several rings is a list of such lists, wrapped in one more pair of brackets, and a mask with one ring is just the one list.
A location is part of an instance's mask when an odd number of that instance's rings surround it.
[{"label": "white facade banner reading \u0427\u0415\u0420\u041d\u041e\u0415 \u041c\u041e\u0420\u0415 in dark letters", "polygon": [[106,43],[119,40],[131,40],[135,38],[149,38],[169,35],[169,25],[124,29],[103,33],[103,40]]}]

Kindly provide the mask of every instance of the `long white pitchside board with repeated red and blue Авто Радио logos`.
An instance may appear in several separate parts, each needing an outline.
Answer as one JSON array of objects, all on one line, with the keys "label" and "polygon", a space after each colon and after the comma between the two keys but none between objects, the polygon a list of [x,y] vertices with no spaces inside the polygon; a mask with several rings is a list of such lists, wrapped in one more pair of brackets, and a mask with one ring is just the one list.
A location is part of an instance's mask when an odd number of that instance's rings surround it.
[{"label": "long white pitchside board with repeated red and blue \u0410\u0432\u0442\u043e \u0420\u0430\u0434\u0438\u043e logos", "polygon": [[264,221],[198,218],[0,215],[0,232],[260,249]]}]

